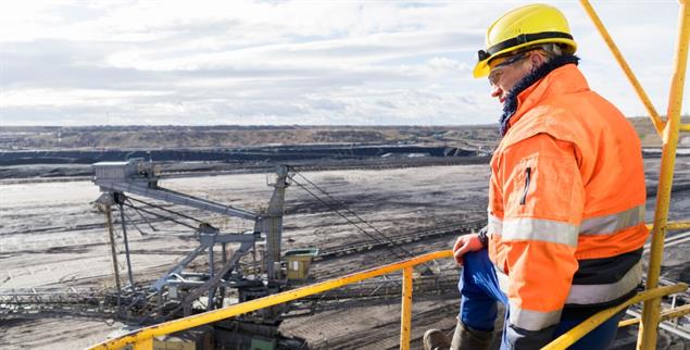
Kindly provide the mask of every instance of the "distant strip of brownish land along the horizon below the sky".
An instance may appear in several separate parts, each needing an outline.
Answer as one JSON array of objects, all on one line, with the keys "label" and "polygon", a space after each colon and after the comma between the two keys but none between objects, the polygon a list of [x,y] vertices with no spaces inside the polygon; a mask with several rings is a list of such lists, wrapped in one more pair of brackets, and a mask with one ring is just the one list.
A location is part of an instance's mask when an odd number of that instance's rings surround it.
[{"label": "distant strip of brownish land along the horizon below the sky", "polygon": [[[629,118],[643,147],[660,147],[648,117]],[[690,121],[682,117],[683,123]],[[491,149],[500,139],[498,124],[463,126],[3,126],[1,150],[179,149],[310,143],[444,143]],[[680,140],[690,145],[690,137]]]}]

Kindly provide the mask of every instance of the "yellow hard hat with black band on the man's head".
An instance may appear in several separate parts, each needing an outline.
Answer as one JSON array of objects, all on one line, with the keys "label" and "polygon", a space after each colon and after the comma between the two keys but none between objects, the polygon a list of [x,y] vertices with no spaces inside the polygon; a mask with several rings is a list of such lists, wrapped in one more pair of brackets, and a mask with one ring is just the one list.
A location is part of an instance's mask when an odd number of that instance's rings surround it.
[{"label": "yellow hard hat with black band on the man's head", "polygon": [[566,53],[574,53],[577,43],[570,35],[567,20],[559,9],[530,4],[510,11],[487,29],[486,51],[479,51],[474,76],[489,75],[489,62],[505,53],[539,43],[562,43]]}]

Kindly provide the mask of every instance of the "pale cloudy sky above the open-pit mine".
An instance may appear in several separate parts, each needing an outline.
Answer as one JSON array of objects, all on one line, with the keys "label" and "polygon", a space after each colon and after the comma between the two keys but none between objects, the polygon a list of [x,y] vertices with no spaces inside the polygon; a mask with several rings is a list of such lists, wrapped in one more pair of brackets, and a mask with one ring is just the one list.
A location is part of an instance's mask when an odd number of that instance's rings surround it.
[{"label": "pale cloudy sky above the open-pit mine", "polygon": [[[568,18],[591,88],[647,115],[579,2],[544,3]],[[486,28],[523,4],[1,1],[0,125],[495,123],[472,70]],[[592,4],[665,114],[678,2]]]}]

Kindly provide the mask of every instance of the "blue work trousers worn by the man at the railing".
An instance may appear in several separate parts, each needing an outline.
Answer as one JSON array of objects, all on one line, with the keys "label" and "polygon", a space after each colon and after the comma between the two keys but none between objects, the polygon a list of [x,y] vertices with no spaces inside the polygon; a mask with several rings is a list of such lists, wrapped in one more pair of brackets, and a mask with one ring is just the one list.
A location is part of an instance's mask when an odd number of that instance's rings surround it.
[{"label": "blue work trousers worn by the man at the railing", "polygon": [[[501,349],[511,349],[505,339],[507,316],[510,314],[507,297],[499,287],[499,279],[493,270],[493,264],[489,260],[488,250],[482,249],[480,251],[466,253],[463,260],[463,270],[460,276],[460,283],[457,284],[462,296],[460,320],[463,324],[473,329],[493,330],[497,317],[497,302],[502,302],[505,305],[506,312]],[[568,316],[568,313],[564,312],[561,322],[555,328],[553,338],[555,339],[568,332],[592,314],[593,312],[582,315],[580,312],[577,316]],[[609,318],[609,321],[594,328],[587,336],[580,338],[580,340],[568,349],[609,349],[616,337],[618,322],[623,318],[625,310]]]}]

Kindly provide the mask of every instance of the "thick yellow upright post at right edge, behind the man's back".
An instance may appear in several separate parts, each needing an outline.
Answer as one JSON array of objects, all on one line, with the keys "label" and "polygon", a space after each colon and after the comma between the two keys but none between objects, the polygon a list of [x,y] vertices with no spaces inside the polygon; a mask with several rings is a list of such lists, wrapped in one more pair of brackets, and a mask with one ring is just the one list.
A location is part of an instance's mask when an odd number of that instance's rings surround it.
[{"label": "thick yellow upright post at right edge, behind the man's back", "polygon": [[[658,190],[656,191],[656,212],[654,213],[654,226],[652,228],[652,249],[647,274],[647,289],[655,288],[658,285],[661,274],[666,222],[670,203],[670,188],[674,182],[674,165],[676,164],[682,89],[688,63],[690,11],[688,9],[688,0],[679,0],[679,3],[678,41],[676,42],[675,68],[668,93],[667,121],[663,134],[662,164],[658,175]],[[645,301],[642,308],[642,322],[638,334],[638,349],[656,349],[656,328],[660,317],[661,298]]]}]

